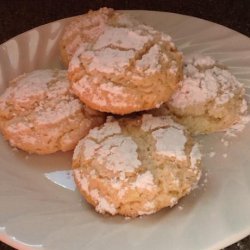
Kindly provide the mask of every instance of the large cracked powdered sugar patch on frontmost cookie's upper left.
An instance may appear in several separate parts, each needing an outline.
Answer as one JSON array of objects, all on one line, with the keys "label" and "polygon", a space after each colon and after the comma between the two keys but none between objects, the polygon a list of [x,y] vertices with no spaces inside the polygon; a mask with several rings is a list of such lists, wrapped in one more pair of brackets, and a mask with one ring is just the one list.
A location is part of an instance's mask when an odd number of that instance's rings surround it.
[{"label": "large cracked powdered sugar patch on frontmost cookie's upper left", "polygon": [[[83,150],[85,159],[90,160],[95,156],[99,164],[113,172],[133,172],[141,165],[137,144],[131,137],[120,133],[121,127],[117,121],[107,122],[101,128],[92,129],[80,142],[80,150]],[[76,157],[79,149],[77,152]]]}]

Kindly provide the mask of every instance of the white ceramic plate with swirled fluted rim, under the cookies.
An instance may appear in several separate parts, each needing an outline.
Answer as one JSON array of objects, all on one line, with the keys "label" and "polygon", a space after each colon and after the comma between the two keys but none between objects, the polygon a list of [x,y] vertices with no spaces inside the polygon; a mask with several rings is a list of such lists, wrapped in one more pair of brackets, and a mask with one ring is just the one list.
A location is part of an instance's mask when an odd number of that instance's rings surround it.
[{"label": "white ceramic plate with swirled fluted rim, under the cookies", "polygon": [[[185,55],[211,55],[250,86],[247,37],[193,17],[130,13],[170,34]],[[20,73],[61,67],[58,40],[66,21],[35,28],[1,45],[0,93]],[[0,239],[19,249],[46,250],[200,250],[230,245],[250,233],[250,126],[235,138],[213,134],[199,140],[204,153],[199,188],[173,209],[125,220],[95,213],[72,191],[65,171],[72,153],[29,156],[13,151],[0,137]],[[216,152],[214,157],[208,156],[211,152]]]}]

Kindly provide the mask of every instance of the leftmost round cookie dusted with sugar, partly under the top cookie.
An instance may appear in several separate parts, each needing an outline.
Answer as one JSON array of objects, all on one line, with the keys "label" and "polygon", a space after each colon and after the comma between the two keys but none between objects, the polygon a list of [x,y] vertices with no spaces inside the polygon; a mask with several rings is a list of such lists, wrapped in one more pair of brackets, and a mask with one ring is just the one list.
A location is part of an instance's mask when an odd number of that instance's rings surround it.
[{"label": "leftmost round cookie dusted with sugar, partly under the top cookie", "polygon": [[36,70],[10,82],[0,96],[0,130],[14,147],[49,154],[74,149],[105,120],[69,91],[67,71]]}]

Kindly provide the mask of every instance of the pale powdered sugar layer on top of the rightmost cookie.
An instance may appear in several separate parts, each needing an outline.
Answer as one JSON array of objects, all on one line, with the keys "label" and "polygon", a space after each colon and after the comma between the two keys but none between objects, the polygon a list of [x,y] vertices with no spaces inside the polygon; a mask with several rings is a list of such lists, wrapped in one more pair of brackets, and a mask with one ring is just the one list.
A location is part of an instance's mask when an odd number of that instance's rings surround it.
[{"label": "pale powdered sugar layer on top of the rightmost cookie", "polygon": [[185,65],[181,89],[173,95],[170,105],[185,108],[209,101],[223,105],[241,89],[243,85],[214,59],[195,56]]}]

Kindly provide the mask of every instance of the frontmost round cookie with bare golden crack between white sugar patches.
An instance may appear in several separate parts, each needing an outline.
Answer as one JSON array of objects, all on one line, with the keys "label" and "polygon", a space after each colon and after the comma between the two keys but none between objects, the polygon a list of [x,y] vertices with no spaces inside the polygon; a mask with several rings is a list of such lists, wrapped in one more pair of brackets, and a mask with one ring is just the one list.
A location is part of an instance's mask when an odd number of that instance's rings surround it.
[{"label": "frontmost round cookie with bare golden crack between white sugar patches", "polygon": [[75,148],[76,184],[99,213],[136,217],[174,206],[201,175],[198,145],[170,117],[106,122]]}]

